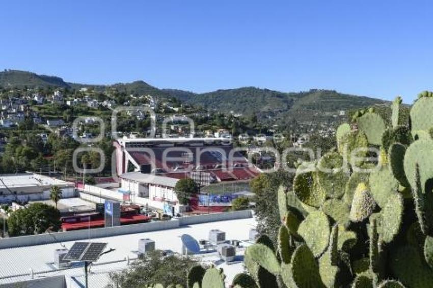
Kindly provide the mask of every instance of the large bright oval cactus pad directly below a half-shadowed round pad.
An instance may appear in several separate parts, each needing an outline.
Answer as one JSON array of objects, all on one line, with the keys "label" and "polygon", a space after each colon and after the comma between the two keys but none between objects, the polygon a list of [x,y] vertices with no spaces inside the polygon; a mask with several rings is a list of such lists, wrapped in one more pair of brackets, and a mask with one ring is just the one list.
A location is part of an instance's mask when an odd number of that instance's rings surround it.
[{"label": "large bright oval cactus pad directly below a half-shadowed round pad", "polygon": [[323,212],[314,211],[301,222],[297,233],[305,240],[314,256],[318,257],[329,244],[331,234],[329,219]]}]

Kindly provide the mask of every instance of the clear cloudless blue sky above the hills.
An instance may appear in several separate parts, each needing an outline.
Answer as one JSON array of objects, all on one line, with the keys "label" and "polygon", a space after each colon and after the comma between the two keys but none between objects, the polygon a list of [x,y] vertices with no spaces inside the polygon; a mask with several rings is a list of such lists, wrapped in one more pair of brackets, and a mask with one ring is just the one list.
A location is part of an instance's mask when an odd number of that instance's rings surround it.
[{"label": "clear cloudless blue sky above the hills", "polygon": [[0,69],[194,92],[433,89],[431,1],[4,1]]}]

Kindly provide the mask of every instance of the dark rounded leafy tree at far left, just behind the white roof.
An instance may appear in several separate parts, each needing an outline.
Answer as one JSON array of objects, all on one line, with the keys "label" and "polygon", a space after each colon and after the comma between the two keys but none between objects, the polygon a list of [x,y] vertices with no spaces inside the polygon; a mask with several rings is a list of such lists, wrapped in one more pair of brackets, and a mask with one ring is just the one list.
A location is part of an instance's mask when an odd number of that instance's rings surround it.
[{"label": "dark rounded leafy tree at far left, just behind the white roof", "polygon": [[9,236],[33,235],[59,231],[62,222],[57,208],[44,203],[33,203],[28,208],[12,212],[8,218]]}]

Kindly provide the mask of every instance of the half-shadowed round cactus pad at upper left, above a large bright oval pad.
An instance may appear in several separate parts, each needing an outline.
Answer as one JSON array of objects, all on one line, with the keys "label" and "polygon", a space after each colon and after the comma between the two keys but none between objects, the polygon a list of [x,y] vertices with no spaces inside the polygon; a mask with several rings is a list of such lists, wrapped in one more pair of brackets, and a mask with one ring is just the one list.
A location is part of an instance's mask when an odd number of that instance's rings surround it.
[{"label": "half-shadowed round cactus pad at upper left, above a large bright oval pad", "polygon": [[304,204],[316,208],[320,207],[326,198],[325,191],[318,184],[316,171],[296,173],[293,190]]}]

